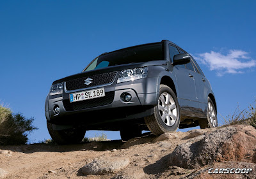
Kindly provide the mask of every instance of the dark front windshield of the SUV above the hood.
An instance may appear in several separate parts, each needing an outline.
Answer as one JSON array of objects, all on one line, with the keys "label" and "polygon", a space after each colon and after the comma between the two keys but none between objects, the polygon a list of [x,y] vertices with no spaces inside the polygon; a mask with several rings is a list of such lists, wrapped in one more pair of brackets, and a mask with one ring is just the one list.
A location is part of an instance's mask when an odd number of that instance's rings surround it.
[{"label": "dark front windshield of the SUV above the hood", "polygon": [[162,43],[151,43],[137,47],[124,48],[100,55],[83,71],[135,62],[161,61],[163,59],[164,53]]}]

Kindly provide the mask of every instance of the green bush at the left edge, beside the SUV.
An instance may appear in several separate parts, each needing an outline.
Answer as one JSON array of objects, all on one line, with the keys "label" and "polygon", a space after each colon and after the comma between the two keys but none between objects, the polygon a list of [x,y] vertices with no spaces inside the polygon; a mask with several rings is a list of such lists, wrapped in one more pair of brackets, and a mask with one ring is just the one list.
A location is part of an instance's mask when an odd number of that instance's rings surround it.
[{"label": "green bush at the left edge, beside the SUV", "polygon": [[37,129],[34,118],[26,118],[22,113],[13,114],[10,108],[0,104],[0,145],[20,145],[28,142],[28,132]]}]

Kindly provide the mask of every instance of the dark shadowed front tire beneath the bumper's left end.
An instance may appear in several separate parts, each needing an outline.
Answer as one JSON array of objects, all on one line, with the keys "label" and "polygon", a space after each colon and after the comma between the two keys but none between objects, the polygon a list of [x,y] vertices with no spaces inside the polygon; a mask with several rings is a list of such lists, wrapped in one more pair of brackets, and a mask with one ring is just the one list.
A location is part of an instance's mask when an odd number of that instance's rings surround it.
[{"label": "dark shadowed front tire beneath the bumper's left end", "polygon": [[58,145],[68,145],[80,143],[85,135],[85,130],[81,128],[65,129],[65,130],[54,130],[52,124],[47,121],[47,128],[52,140]]}]

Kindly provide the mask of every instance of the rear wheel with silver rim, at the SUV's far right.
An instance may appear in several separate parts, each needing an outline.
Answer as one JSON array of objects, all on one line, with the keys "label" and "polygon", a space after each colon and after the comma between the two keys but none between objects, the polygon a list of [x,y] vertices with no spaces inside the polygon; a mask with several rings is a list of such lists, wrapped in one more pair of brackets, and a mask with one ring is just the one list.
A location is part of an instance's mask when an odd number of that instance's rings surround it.
[{"label": "rear wheel with silver rim, at the SUV's far right", "polygon": [[207,119],[199,120],[199,125],[201,129],[218,126],[216,109],[210,97],[208,97],[207,102]]}]

